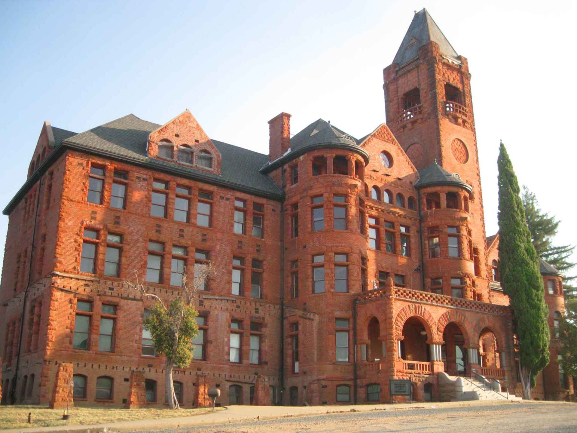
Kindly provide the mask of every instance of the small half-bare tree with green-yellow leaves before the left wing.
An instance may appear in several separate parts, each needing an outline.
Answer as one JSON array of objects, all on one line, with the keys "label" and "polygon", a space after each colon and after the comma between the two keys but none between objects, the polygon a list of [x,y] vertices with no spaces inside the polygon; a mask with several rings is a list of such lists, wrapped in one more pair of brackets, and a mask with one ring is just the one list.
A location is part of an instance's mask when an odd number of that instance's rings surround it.
[{"label": "small half-bare tree with green-yellow leaves before the left wing", "polygon": [[179,409],[177,395],[174,392],[173,368],[188,367],[193,356],[192,339],[198,335],[198,325],[196,317],[198,315],[194,308],[194,298],[196,292],[204,281],[213,275],[211,263],[197,264],[194,267],[194,280],[189,284],[186,278],[186,269],[183,270],[181,297],[167,303],[155,293],[148,292],[147,288],[138,281],[136,283],[125,281],[125,283],[137,290],[144,297],[155,301],[148,309],[148,316],[144,319],[144,327],[152,334],[152,341],[156,352],[166,357],[166,369],[164,374],[164,385],[170,409]]}]

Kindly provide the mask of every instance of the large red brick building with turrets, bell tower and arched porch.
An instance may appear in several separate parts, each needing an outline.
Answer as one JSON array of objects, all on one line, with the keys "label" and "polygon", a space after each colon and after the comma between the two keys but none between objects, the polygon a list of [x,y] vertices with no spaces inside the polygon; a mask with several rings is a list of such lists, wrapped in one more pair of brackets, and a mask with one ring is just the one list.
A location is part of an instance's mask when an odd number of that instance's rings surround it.
[{"label": "large red brick building with turrets, bell tower and arched porch", "polygon": [[[486,237],[467,59],[415,14],[384,69],[387,123],[362,139],[269,121],[269,155],[211,140],[186,110],[83,133],[42,127],[4,210],[2,401],[164,402],[135,271],[170,301],[211,261],[182,405],[391,400],[411,379],[475,369],[518,386],[508,298]],[[557,364],[563,274],[542,263],[553,330],[535,397],[572,390]],[[72,370],[70,369],[72,367]],[[55,398],[54,396],[56,395]]]}]

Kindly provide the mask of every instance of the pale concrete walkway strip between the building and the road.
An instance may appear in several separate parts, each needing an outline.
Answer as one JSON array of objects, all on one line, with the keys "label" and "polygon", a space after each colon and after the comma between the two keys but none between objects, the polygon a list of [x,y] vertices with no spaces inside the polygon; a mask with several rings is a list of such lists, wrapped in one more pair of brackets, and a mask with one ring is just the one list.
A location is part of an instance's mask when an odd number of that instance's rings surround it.
[{"label": "pale concrete walkway strip between the building and the road", "polygon": [[[526,401],[527,402],[527,401]],[[546,403],[539,401],[539,403]],[[550,402],[552,405],[555,402]],[[324,413],[338,412],[369,412],[370,410],[410,410],[416,408],[436,409],[451,408],[459,406],[486,406],[498,404],[514,404],[503,401],[459,401],[459,402],[432,402],[432,403],[412,403],[412,404],[395,404],[395,405],[350,405],[350,406],[228,406],[218,412],[203,413],[202,415],[185,416],[178,418],[165,418],[157,420],[138,420],[138,421],[121,421],[117,423],[103,424],[84,424],[84,425],[67,425],[57,427],[31,427],[31,428],[14,428],[9,430],[0,430],[1,433],[59,433],[59,432],[87,432],[99,433],[108,432],[126,432],[154,430],[155,428],[178,428],[178,427],[199,427],[212,424],[227,424],[239,421],[254,421],[274,419],[286,416],[302,415],[321,415]],[[106,430],[105,430],[106,429]]]}]

